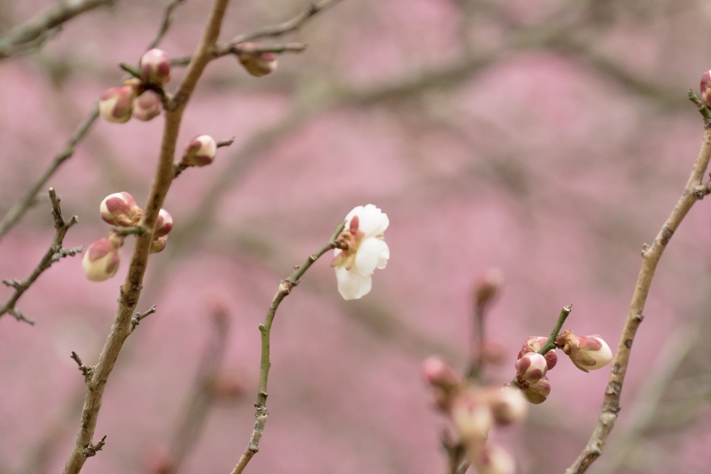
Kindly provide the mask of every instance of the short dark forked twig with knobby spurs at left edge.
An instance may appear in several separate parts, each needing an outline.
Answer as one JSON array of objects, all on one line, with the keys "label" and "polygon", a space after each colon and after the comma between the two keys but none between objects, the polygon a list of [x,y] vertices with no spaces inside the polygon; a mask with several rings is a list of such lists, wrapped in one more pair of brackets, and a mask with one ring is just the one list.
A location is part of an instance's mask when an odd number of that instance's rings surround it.
[{"label": "short dark forked twig with knobby spurs at left edge", "polygon": [[50,202],[52,203],[52,216],[54,217],[55,228],[55,235],[52,239],[52,243],[47,249],[47,252],[45,252],[44,256],[40,260],[39,264],[30,274],[30,276],[21,281],[3,281],[6,286],[11,286],[15,289],[15,291],[14,293],[12,293],[8,301],[6,301],[3,306],[0,306],[0,316],[4,315],[5,313],[8,313],[11,316],[14,316],[17,321],[24,321],[25,323],[34,324],[34,321],[29,318],[26,318],[20,311],[18,311],[18,309],[16,308],[17,301],[21,298],[23,293],[25,293],[25,291],[27,291],[30,286],[32,286],[32,284],[39,278],[39,276],[43,274],[46,269],[52,266],[53,263],[58,262],[63,257],[74,257],[78,252],[81,252],[82,250],[81,247],[66,249],[62,246],[67,231],[70,227],[77,223],[78,217],[73,215],[69,218],[69,220],[64,219],[62,215],[62,208],[60,207],[60,198],[55,193],[54,188],[49,188],[49,198]]}]

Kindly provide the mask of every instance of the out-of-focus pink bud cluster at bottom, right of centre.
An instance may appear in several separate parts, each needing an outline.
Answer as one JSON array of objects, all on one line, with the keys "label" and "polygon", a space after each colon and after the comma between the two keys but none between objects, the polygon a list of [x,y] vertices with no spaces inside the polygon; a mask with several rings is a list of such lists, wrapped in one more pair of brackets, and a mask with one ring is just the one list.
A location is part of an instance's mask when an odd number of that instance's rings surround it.
[{"label": "out-of-focus pink bud cluster at bottom, right of centre", "polygon": [[489,431],[523,421],[528,403],[513,387],[469,387],[449,363],[429,357],[422,373],[433,389],[434,402],[451,420],[456,440],[480,473],[513,474],[513,458],[488,441]]}]

